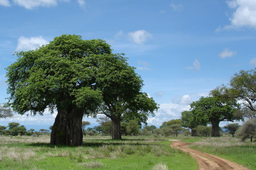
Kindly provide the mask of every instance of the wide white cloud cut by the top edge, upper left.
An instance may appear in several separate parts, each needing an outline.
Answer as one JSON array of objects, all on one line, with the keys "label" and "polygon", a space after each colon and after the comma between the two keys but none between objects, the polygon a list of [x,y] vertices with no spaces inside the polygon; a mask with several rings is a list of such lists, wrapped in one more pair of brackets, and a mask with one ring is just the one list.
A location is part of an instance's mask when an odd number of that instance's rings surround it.
[{"label": "wide white cloud cut by the top edge, upper left", "polygon": [[12,0],[15,4],[32,9],[38,6],[50,7],[57,5],[56,0]]}]

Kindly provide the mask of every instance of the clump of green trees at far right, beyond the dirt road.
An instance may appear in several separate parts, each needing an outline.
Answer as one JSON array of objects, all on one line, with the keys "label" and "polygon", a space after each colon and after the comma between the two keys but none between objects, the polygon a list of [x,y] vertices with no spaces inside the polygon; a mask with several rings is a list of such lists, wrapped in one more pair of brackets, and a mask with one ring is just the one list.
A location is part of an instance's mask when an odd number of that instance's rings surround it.
[{"label": "clump of green trees at far right, beyond the dirt road", "polygon": [[221,85],[210,91],[209,96],[201,97],[190,104],[189,111],[181,113],[182,126],[191,129],[196,136],[198,126],[212,125],[212,137],[220,136],[219,123],[222,121],[245,121],[228,124],[227,129],[235,135],[246,138],[256,137],[256,68],[240,70],[234,74],[229,85]]}]

